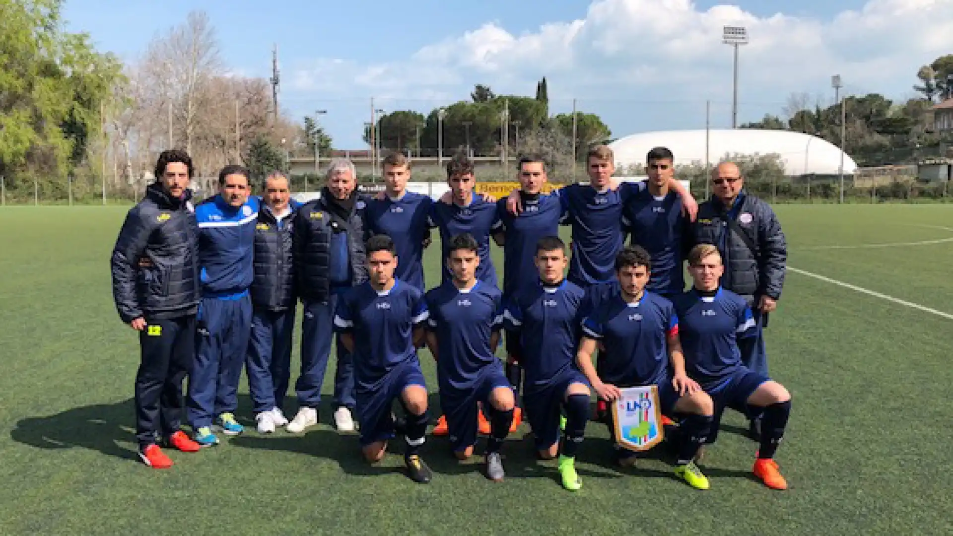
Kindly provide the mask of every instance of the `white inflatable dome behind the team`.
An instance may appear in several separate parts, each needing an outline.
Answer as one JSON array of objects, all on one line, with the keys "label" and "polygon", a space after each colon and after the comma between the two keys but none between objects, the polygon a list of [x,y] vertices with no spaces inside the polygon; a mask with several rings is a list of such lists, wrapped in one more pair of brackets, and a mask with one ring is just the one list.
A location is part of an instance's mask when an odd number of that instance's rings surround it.
[{"label": "white inflatable dome behind the team", "polygon": [[[727,129],[708,131],[708,158],[714,165],[725,155],[780,155],[787,175],[837,175],[841,148],[820,137],[787,131]],[[645,155],[653,147],[667,147],[675,155],[675,164],[705,162],[705,131],[666,131],[632,134],[614,141],[609,147],[616,154],[616,165],[644,166]],[[843,155],[843,173],[852,175],[857,163]]]}]

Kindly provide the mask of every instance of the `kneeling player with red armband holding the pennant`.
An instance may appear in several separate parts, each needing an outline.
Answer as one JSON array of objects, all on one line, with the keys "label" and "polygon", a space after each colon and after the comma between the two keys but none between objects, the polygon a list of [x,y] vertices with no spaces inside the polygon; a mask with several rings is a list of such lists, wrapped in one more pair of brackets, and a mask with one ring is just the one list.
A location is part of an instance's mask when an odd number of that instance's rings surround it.
[{"label": "kneeling player with red armband holding the pennant", "polygon": [[[618,292],[582,320],[579,369],[606,402],[619,398],[620,387],[658,386],[661,413],[687,416],[681,423],[675,472],[691,486],[708,489],[708,479],[693,460],[708,436],[714,404],[685,373],[679,318],[672,302],[644,290],[650,264],[649,254],[639,246],[627,246],[618,253]],[[603,348],[597,372],[592,356],[599,342]],[[615,440],[611,412],[608,421]],[[619,464],[636,463],[635,453],[617,448]]]}]

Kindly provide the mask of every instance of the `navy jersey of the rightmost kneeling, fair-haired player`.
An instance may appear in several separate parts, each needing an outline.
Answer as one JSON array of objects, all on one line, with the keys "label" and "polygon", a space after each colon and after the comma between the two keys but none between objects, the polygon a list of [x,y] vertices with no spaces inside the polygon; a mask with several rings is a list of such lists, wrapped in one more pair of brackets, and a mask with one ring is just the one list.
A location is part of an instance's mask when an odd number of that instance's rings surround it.
[{"label": "navy jersey of the rightmost kneeling, fair-haired player", "polygon": [[685,292],[675,299],[675,307],[688,375],[706,391],[718,388],[741,366],[738,339],[754,332],[751,309],[743,298],[721,288],[713,297]]}]

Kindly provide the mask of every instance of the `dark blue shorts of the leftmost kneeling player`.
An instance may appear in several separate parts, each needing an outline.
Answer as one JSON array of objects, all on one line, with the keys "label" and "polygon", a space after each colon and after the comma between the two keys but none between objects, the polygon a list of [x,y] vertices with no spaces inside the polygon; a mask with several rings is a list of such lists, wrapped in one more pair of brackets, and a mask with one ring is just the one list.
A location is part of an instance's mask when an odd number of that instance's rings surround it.
[{"label": "dark blue shorts of the leftmost kneeling player", "polygon": [[394,416],[391,408],[394,401],[402,400],[400,395],[411,385],[427,388],[423,373],[420,372],[420,363],[416,360],[398,365],[387,373],[379,385],[380,388],[375,391],[355,391],[355,410],[360,422],[361,446],[392,439]]}]

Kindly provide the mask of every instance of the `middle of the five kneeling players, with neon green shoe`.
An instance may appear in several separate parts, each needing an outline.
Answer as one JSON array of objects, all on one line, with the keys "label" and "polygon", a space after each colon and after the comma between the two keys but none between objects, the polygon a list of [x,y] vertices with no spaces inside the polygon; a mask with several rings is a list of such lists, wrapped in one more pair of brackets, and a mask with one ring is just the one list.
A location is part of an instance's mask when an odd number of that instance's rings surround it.
[{"label": "middle of the five kneeling players, with neon green shoe", "polygon": [[[562,485],[575,491],[582,486],[576,452],[589,418],[589,384],[574,363],[585,293],[565,280],[568,258],[559,237],[539,239],[534,262],[537,280],[515,290],[503,321],[507,337],[519,337],[520,362],[526,371],[523,406],[539,457],[552,460],[558,455]],[[561,445],[560,410],[567,416]]]}]

